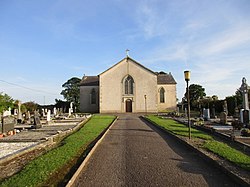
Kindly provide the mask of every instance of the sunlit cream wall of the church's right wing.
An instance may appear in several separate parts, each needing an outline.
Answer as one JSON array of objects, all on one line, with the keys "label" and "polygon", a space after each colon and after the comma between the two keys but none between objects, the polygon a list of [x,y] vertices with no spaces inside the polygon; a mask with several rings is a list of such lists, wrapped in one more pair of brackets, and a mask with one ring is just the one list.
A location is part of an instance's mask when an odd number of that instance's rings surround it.
[{"label": "sunlit cream wall of the church's right wing", "polygon": [[[157,85],[158,111],[175,110],[176,109],[176,85]],[[160,103],[160,89],[164,88],[164,103]]]}]

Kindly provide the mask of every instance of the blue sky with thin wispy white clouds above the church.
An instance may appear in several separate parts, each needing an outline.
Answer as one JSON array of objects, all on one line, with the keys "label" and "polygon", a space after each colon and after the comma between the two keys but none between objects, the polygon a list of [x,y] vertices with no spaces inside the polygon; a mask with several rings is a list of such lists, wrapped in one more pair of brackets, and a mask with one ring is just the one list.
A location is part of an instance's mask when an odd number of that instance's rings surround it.
[{"label": "blue sky with thin wispy white clouds above the church", "polygon": [[54,104],[126,56],[219,99],[250,85],[250,0],[0,0],[0,92]]}]

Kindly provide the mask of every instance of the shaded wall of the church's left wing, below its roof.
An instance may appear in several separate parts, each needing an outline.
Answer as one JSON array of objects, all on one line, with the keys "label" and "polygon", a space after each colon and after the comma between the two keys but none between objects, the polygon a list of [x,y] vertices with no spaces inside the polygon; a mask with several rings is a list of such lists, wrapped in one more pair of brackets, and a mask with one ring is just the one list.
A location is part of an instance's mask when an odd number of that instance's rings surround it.
[{"label": "shaded wall of the church's left wing, below its roof", "polygon": [[[91,104],[91,93],[95,89],[96,104]],[[80,87],[80,111],[96,113],[99,112],[99,86],[81,86]]]}]

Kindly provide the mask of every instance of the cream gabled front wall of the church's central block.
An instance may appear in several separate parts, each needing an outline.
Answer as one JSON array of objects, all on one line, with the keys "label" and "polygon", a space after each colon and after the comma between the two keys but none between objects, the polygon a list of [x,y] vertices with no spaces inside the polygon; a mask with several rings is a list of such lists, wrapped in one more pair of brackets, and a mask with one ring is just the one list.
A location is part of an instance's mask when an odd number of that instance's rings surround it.
[{"label": "cream gabled front wall of the church's central block", "polygon": [[[123,79],[127,75],[134,79],[134,94],[125,95]],[[136,63],[124,59],[100,75],[100,113],[126,112],[126,100],[132,100],[132,112],[157,111],[157,77]]]}]

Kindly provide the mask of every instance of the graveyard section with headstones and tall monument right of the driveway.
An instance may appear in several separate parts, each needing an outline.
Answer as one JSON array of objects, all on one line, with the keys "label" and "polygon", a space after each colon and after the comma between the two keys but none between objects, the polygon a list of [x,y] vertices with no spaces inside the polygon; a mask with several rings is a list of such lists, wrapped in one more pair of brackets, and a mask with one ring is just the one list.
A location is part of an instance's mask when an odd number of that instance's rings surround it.
[{"label": "graveyard section with headstones and tall monument right of the driveway", "polygon": [[[235,142],[240,142],[244,146],[250,146],[250,124],[249,124],[249,102],[248,102],[248,91],[249,86],[246,83],[246,79],[242,79],[242,84],[240,87],[240,92],[242,94],[242,108],[235,108],[235,113],[233,116],[228,115],[227,101],[224,100],[222,104],[222,111],[215,115],[214,108],[203,108],[200,115],[193,115],[190,123],[192,126],[199,129],[203,129],[206,132],[217,133],[219,136],[225,139],[232,140]],[[210,111],[212,114],[210,115]],[[182,123],[187,124],[187,114],[184,113],[182,116],[177,113],[175,119]],[[249,148],[247,148],[249,149]]]}]

